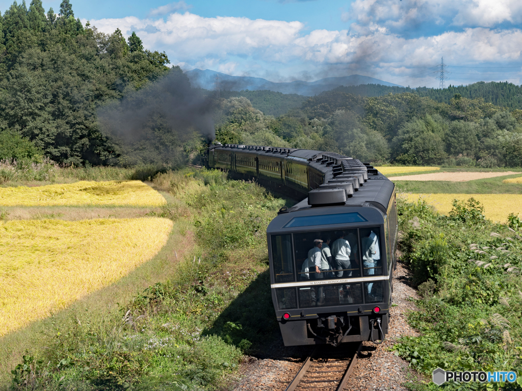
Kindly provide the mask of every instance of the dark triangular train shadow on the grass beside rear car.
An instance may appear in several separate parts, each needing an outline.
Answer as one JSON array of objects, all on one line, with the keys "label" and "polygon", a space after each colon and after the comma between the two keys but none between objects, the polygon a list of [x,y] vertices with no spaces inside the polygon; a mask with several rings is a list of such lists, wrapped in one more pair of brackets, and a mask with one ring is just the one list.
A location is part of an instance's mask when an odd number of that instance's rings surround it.
[{"label": "dark triangular train shadow on the grass beside rear car", "polygon": [[205,335],[217,335],[251,356],[265,357],[282,338],[270,294],[269,271],[265,271],[218,316]]}]

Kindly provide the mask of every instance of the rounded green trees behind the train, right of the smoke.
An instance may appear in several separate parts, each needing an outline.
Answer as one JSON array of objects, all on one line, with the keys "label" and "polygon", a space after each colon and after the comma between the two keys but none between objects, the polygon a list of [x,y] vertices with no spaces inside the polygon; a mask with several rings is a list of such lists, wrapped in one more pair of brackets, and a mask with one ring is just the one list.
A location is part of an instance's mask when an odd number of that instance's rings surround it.
[{"label": "rounded green trees behind the train, right of the smoke", "polygon": [[222,143],[340,152],[374,163],[522,166],[522,111],[454,94],[449,104],[413,93],[365,97],[342,89],[279,117],[245,97],[223,100]]}]

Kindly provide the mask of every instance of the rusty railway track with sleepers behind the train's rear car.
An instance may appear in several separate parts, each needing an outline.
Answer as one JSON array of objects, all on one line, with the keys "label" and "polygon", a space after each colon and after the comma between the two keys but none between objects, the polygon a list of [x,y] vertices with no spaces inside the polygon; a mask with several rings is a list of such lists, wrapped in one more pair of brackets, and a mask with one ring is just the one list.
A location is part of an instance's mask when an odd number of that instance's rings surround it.
[{"label": "rusty railway track with sleepers behind the train's rear car", "polygon": [[315,348],[285,391],[342,391],[357,363],[362,343]]}]

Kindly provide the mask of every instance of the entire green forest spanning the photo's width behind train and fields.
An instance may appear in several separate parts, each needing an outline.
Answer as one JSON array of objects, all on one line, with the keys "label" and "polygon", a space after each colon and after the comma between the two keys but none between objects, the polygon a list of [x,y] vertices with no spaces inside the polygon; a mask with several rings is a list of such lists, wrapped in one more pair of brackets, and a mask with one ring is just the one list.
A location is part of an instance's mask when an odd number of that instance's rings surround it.
[{"label": "entire green forest spanning the photo's width behind train and fields", "polygon": [[41,0],[0,15],[0,160],[61,165],[200,161],[205,146],[342,152],[372,163],[522,166],[520,87],[359,85],[306,98],[193,89],[133,33],[104,34]]}]

